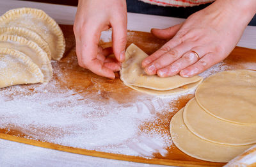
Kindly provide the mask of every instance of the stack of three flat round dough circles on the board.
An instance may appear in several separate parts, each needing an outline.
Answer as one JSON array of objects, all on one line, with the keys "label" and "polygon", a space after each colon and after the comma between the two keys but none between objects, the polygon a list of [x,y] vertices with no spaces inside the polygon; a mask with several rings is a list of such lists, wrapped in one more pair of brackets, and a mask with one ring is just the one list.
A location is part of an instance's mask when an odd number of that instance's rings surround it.
[{"label": "stack of three flat round dough circles on the board", "polygon": [[233,70],[208,77],[176,115],[170,132],[180,150],[206,161],[230,161],[256,143],[256,72]]}]

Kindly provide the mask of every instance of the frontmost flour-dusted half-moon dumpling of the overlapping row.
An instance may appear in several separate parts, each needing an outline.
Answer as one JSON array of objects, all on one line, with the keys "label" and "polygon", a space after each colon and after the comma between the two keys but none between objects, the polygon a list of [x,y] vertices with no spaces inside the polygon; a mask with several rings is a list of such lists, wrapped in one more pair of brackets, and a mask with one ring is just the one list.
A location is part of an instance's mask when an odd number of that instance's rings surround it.
[{"label": "frontmost flour-dusted half-moon dumpling of the overlapping row", "polygon": [[14,49],[0,47],[0,88],[43,81],[40,68],[28,56]]}]

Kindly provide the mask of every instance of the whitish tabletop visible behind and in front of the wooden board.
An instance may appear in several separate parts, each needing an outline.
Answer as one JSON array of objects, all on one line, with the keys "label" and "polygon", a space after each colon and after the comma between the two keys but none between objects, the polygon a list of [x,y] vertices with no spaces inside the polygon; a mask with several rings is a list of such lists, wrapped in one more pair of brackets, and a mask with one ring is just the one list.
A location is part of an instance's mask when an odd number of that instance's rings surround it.
[{"label": "whitish tabletop visible behind and in front of the wooden board", "polygon": [[[59,24],[73,24],[76,7],[56,4],[32,3],[28,1],[0,0],[0,15],[13,8],[32,7],[44,10]],[[150,31],[150,28],[167,28],[184,21],[173,17],[128,13],[128,29]],[[247,26],[237,44],[256,49],[256,27]],[[0,166],[161,166],[103,159],[34,147],[0,139]]]}]

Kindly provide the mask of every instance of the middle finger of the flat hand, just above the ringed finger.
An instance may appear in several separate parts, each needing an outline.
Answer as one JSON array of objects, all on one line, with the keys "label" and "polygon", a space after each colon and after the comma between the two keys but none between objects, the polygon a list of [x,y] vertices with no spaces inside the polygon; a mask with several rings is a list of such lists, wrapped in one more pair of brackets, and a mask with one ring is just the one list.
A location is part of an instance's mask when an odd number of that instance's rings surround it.
[{"label": "middle finger of the flat hand, just above the ringed finger", "polygon": [[170,51],[165,52],[159,58],[157,58],[157,60],[150,63],[145,68],[145,72],[148,75],[157,74],[157,70],[172,64],[174,61],[178,60],[185,52],[189,51],[190,49],[191,49],[190,42],[180,44],[177,47],[170,49]]}]

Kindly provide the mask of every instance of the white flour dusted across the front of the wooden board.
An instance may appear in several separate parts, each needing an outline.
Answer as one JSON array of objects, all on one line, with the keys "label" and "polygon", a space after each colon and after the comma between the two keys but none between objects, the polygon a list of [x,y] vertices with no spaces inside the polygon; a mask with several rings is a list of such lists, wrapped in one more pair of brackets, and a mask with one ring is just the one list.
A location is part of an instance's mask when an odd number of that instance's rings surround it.
[{"label": "white flour dusted across the front of the wooden board", "polygon": [[[63,77],[65,72],[57,63],[52,61],[52,65],[54,75]],[[171,113],[170,103],[178,96],[140,95],[136,102],[119,104],[109,99],[99,104],[95,98],[101,93],[99,90],[84,97],[60,87],[54,79],[49,84],[1,89],[0,128],[68,147],[145,157],[166,154],[165,149],[172,145],[170,136],[160,129],[143,131],[140,127],[144,122],[156,122],[157,113],[165,108]]]}]

